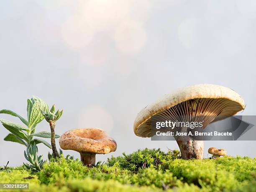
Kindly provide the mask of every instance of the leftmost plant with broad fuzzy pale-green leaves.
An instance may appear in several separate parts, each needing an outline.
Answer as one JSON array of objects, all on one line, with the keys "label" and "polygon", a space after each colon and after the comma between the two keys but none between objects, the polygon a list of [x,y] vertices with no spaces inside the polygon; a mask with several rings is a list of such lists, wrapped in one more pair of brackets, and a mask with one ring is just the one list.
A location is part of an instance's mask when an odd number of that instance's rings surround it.
[{"label": "leftmost plant with broad fuzzy pale-green leaves", "polygon": [[[33,138],[34,136],[41,138],[51,138],[51,133],[49,132],[42,131],[36,133],[36,125],[38,125],[38,123],[44,119],[44,116],[41,114],[40,110],[45,109],[46,111],[49,111],[48,105],[39,97],[35,96],[33,96],[31,99],[28,99],[27,102],[27,120],[18,113],[15,113],[11,110],[0,110],[0,113],[18,117],[26,125],[24,126],[18,123],[13,123],[9,120],[0,119],[0,122],[3,124],[3,126],[8,131],[10,131],[10,134],[8,134],[4,140],[20,143],[27,147],[33,144],[44,143],[44,145],[51,148],[51,145],[47,141],[44,141],[40,138]],[[55,137],[59,138],[58,135]]]}]

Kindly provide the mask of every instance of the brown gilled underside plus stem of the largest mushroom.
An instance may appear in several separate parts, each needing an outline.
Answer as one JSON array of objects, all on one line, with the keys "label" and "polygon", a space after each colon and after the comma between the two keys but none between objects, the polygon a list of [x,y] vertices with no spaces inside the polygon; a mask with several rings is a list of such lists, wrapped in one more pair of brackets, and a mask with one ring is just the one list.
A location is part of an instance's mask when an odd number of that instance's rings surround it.
[{"label": "brown gilled underside plus stem of the largest mushroom", "polygon": [[[205,128],[209,123],[235,115],[242,110],[242,106],[235,101],[219,98],[196,98],[181,102],[166,110],[153,115],[136,129],[136,134],[142,137],[154,136],[156,131],[152,129],[157,121],[179,121],[179,122],[204,122]],[[185,119],[184,119],[185,118]],[[174,129],[166,129],[166,131],[174,131]],[[188,136],[174,137],[181,151],[182,159],[202,159],[204,142],[193,141]]]}]

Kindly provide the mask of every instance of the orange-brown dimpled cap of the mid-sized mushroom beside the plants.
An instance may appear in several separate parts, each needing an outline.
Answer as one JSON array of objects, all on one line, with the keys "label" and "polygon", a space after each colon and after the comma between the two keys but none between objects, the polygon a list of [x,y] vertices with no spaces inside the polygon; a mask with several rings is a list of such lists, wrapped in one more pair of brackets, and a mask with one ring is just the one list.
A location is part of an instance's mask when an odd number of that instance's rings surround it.
[{"label": "orange-brown dimpled cap of the mid-sized mushroom beside the plants", "polygon": [[108,154],[116,150],[113,138],[99,128],[79,128],[65,132],[59,139],[62,149],[79,153]]}]

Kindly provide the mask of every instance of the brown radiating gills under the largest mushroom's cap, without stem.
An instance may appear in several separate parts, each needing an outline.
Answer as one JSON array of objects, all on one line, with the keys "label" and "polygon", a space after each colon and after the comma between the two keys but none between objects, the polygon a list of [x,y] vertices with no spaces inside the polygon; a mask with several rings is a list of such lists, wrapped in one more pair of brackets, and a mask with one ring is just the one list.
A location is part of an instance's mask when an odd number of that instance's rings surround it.
[{"label": "brown radiating gills under the largest mushroom's cap, without stem", "polygon": [[[209,123],[235,115],[234,112],[240,110],[243,110],[243,108],[239,103],[225,98],[187,100],[153,115],[138,127],[137,134],[142,137],[151,137],[155,134],[154,130],[151,130],[152,125],[156,121],[166,120],[182,122],[203,121],[203,128],[205,128]],[[173,130],[170,129],[168,131]]]}]

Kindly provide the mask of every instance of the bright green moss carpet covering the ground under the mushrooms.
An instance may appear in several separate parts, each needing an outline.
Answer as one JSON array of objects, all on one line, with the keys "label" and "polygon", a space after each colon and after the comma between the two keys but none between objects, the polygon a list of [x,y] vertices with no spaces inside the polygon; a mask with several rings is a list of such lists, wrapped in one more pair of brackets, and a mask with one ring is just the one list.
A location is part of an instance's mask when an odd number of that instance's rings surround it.
[{"label": "bright green moss carpet covering the ground under the mushrooms", "polygon": [[[33,179],[23,179],[28,176]],[[144,149],[93,168],[62,156],[40,172],[18,167],[0,172],[0,178],[29,182],[31,191],[250,191],[256,184],[256,158],[183,160],[178,151]]]}]

